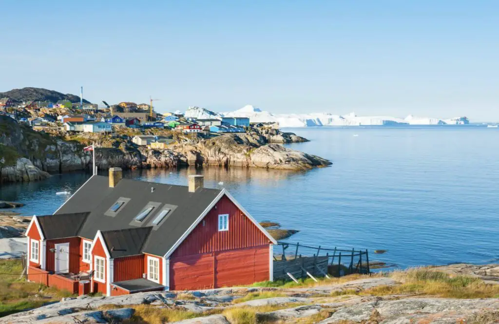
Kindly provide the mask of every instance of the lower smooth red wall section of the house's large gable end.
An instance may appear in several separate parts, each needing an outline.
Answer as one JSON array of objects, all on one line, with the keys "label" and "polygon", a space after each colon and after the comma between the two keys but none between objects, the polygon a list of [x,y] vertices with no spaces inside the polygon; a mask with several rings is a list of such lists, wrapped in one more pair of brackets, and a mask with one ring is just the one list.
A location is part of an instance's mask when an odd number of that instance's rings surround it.
[{"label": "lower smooth red wall section of the house's large gable end", "polygon": [[170,289],[249,285],[269,279],[269,247],[190,255],[170,260]]}]

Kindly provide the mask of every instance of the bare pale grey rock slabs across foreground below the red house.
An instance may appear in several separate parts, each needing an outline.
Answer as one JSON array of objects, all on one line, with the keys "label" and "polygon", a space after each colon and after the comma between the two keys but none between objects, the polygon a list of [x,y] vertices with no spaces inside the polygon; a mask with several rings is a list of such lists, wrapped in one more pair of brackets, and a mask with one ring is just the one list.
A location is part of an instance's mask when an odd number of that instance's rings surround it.
[{"label": "bare pale grey rock slabs across foreground below the red house", "polygon": [[[390,278],[366,278],[317,287],[280,288],[221,288],[194,292],[151,292],[116,297],[79,297],[63,299],[35,310],[0,319],[0,324],[48,323],[129,323],[136,305],[149,305],[148,312],[157,308],[188,310],[199,317],[180,321],[182,324],[230,324],[233,309],[256,312],[259,323],[320,323],[320,324],[461,324],[499,323],[499,299],[446,299],[412,295],[354,296],[353,291],[398,285]],[[237,304],[239,297],[249,293],[273,292],[281,297],[254,299]],[[336,294],[343,293],[343,294]],[[339,295],[336,297],[332,297]],[[306,297],[302,297],[306,296]],[[236,301],[236,302],[233,302]],[[103,311],[101,307],[116,305]],[[263,308],[273,307],[270,312]],[[210,311],[210,312],[206,312]],[[227,312],[226,312],[227,311]],[[220,313],[213,315],[213,313]],[[226,317],[227,315],[227,317]],[[481,319],[481,322],[474,322]],[[484,320],[483,319],[488,319]],[[299,320],[299,321],[298,321]],[[301,322],[304,321],[304,322]],[[142,322],[140,322],[142,323]],[[252,323],[252,322],[248,322]]]}]

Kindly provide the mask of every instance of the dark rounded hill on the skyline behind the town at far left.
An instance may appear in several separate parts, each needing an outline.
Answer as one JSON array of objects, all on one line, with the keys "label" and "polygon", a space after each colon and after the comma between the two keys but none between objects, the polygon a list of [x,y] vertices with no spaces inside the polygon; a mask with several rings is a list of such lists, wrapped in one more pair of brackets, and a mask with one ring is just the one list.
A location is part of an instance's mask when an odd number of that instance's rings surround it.
[{"label": "dark rounded hill on the skyline behind the town at far left", "polygon": [[[22,89],[12,89],[7,92],[0,92],[0,98],[9,97],[14,103],[23,101],[50,101],[57,102],[58,100],[69,100],[71,102],[80,102],[80,97],[74,94],[64,94],[53,90],[43,88],[26,87]],[[90,101],[83,99],[83,103]]]}]

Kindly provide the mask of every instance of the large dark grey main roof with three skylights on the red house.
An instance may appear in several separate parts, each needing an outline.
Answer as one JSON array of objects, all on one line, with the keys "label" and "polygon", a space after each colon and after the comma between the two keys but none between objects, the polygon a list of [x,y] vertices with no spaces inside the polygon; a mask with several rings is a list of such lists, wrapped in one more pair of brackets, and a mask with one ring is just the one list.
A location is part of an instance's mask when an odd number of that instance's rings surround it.
[{"label": "large dark grey main roof with three skylights on the red house", "polygon": [[[109,188],[108,177],[93,176],[56,214],[89,210],[90,214],[78,236],[93,239],[98,230],[104,232],[151,226],[155,216],[165,205],[169,205],[172,211],[168,218],[151,229],[141,249],[144,253],[163,256],[219,194],[218,189],[199,188],[192,193],[187,186],[130,179],[122,179],[116,187]],[[120,198],[129,201],[116,215],[104,215],[109,214],[109,208]],[[135,222],[135,216],[150,203],[157,203],[158,207],[142,223]]]}]

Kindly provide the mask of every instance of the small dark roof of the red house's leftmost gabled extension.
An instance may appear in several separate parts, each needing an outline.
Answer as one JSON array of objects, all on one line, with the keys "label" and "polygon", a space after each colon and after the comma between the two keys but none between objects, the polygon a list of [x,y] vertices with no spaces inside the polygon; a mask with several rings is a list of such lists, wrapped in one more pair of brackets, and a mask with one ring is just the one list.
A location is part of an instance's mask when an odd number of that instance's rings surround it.
[{"label": "small dark roof of the red house's leftmost gabled extension", "polygon": [[89,212],[38,216],[45,240],[78,236]]}]

